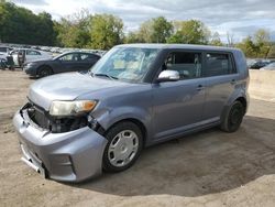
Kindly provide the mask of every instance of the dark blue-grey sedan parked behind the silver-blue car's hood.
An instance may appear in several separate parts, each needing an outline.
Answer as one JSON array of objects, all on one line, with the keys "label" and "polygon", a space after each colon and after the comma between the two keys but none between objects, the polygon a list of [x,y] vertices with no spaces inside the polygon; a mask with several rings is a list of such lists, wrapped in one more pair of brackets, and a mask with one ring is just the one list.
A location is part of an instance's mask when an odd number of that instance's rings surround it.
[{"label": "dark blue-grey sedan parked behind the silver-blue car's hood", "polygon": [[26,63],[23,70],[34,77],[45,77],[65,72],[88,70],[99,58],[99,55],[92,53],[70,52],[58,55],[53,59]]}]

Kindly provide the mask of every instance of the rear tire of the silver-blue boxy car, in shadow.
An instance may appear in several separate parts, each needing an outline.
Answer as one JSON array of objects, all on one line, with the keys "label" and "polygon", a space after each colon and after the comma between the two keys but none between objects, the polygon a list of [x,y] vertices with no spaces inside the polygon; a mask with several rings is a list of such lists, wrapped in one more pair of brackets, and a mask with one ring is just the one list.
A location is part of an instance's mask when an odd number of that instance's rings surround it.
[{"label": "rear tire of the silver-blue boxy car, in shadow", "polygon": [[239,100],[234,101],[229,110],[227,111],[227,115],[224,116],[224,119],[220,126],[220,128],[229,133],[235,132],[243,120],[244,116],[244,106]]}]

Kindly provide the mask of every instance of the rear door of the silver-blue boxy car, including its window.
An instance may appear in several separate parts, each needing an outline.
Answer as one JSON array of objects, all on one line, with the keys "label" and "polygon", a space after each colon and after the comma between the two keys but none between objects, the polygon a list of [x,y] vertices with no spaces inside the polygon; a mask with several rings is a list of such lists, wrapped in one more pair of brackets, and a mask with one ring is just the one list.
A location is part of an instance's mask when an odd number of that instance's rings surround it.
[{"label": "rear door of the silver-blue boxy car, including its window", "polygon": [[207,52],[206,106],[204,119],[219,121],[224,105],[234,92],[239,75],[231,53]]}]

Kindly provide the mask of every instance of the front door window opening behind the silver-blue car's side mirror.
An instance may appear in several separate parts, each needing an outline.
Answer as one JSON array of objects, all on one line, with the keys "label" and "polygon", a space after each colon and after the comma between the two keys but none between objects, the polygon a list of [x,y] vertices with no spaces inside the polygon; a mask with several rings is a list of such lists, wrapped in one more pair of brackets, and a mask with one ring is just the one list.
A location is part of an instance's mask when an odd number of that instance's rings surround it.
[{"label": "front door window opening behind the silver-blue car's side mirror", "polygon": [[180,79],[201,77],[201,53],[170,53],[165,61],[164,69],[177,70]]}]

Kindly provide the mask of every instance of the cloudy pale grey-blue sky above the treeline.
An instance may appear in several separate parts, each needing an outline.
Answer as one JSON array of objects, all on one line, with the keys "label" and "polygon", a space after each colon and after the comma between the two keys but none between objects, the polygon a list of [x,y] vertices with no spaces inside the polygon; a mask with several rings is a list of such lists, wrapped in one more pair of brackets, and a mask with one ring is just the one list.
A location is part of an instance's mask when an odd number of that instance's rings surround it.
[{"label": "cloudy pale grey-blue sky above the treeline", "polygon": [[226,41],[227,32],[240,41],[260,29],[271,32],[275,41],[275,0],[12,0],[34,13],[46,11],[55,20],[81,9],[91,13],[119,15],[125,31],[139,28],[151,18],[164,15],[168,20],[197,19]]}]

